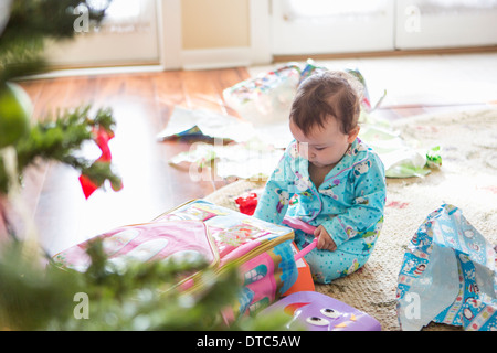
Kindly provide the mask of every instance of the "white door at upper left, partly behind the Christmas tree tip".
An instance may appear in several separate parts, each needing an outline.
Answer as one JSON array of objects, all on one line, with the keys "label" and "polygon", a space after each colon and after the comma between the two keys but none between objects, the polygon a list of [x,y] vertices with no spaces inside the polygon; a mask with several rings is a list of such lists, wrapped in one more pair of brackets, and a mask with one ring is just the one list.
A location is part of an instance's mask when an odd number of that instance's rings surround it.
[{"label": "white door at upper left, partly behind the Christmas tree tip", "polygon": [[81,17],[74,24],[74,40],[49,43],[50,64],[95,67],[159,63],[156,0],[113,0],[98,29],[86,26],[84,9],[78,10],[76,14]]}]

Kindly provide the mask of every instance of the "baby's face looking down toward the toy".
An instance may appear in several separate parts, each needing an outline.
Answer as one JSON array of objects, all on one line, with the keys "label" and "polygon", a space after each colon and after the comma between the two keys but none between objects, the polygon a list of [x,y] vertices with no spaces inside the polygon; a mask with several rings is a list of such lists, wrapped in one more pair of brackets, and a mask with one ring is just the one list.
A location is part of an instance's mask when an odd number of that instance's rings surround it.
[{"label": "baby's face looking down toward the toy", "polygon": [[308,135],[292,120],[289,129],[298,142],[299,154],[318,168],[337,164],[359,133],[359,127],[350,133],[341,132],[337,119],[331,116],[324,127],[316,126]]}]

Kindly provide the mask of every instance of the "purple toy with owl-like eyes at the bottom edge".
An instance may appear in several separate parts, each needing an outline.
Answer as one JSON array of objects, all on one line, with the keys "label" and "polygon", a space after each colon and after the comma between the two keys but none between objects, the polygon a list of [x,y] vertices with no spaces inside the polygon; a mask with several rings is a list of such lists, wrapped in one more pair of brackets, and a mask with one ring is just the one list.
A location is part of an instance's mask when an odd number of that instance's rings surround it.
[{"label": "purple toy with owl-like eyes at the bottom edge", "polygon": [[289,315],[286,329],[308,331],[381,331],[367,313],[315,291],[299,291],[278,300],[260,314],[282,311]]}]

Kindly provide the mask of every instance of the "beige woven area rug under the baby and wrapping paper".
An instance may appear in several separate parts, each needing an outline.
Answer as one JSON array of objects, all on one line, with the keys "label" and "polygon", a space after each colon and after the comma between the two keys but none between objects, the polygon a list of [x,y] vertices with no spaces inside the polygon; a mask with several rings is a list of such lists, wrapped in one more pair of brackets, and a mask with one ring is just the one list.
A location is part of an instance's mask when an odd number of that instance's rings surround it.
[{"label": "beige woven area rug under the baby and wrapping paper", "polygon": [[[416,116],[394,129],[421,150],[442,147],[443,164],[424,178],[388,179],[384,225],[370,260],[359,271],[316,290],[362,310],[382,330],[400,330],[396,284],[408,243],[425,217],[453,204],[490,243],[497,244],[497,109]],[[234,200],[263,182],[237,181],[207,200],[236,210]],[[431,323],[424,330],[461,330]]]}]

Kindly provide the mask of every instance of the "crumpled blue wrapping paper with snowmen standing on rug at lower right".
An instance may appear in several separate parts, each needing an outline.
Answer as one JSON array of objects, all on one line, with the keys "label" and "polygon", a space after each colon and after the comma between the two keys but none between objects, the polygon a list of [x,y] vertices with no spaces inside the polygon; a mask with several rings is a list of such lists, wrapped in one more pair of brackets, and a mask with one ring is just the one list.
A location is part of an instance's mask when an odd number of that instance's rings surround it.
[{"label": "crumpled blue wrapping paper with snowmen standing on rug at lower right", "polygon": [[467,331],[497,330],[496,246],[444,204],[416,231],[404,255],[398,284],[402,330],[430,322]]}]

